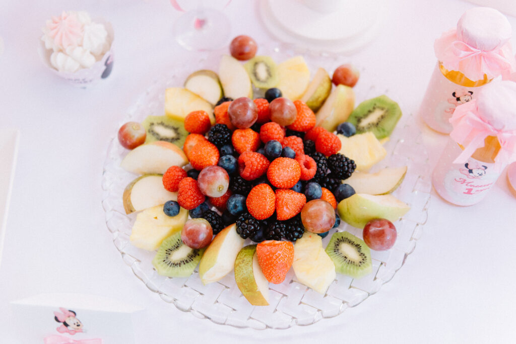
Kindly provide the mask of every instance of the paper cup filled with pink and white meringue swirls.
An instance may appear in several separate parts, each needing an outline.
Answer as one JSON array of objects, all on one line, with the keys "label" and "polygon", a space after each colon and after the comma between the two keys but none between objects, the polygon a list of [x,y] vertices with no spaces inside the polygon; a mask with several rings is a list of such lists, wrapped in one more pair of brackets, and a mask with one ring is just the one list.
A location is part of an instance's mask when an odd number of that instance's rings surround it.
[{"label": "paper cup filled with pink and white meringue swirls", "polygon": [[114,32],[103,19],[84,11],[63,11],[43,27],[40,55],[53,73],[78,87],[109,76],[113,66]]}]

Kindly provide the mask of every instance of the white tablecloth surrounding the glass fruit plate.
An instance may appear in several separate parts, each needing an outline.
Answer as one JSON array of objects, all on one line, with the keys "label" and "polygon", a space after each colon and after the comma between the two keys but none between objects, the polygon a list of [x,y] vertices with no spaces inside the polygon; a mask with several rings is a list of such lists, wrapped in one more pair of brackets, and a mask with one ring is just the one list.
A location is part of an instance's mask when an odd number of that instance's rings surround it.
[{"label": "white tablecloth surrounding the glass fruit plate", "polygon": [[[381,75],[378,84],[388,85],[405,112],[414,113],[436,62],[433,40],[472,6],[393,0],[377,39],[343,62]],[[39,60],[40,28],[63,9],[85,9],[114,26],[114,70],[94,89],[70,87]],[[226,11],[232,37],[270,39],[255,3],[234,0]],[[0,2],[0,119],[21,132],[0,268],[0,342],[17,343],[9,301],[52,292],[101,295],[146,308],[135,324],[138,343],[514,342],[516,198],[505,173],[472,207],[454,207],[432,191],[424,235],[394,279],[359,306],[314,325],[266,331],[217,325],[178,311],[138,281],[105,225],[102,167],[134,98],[162,67],[192,54],[173,40],[179,15],[166,0]],[[516,19],[509,21],[516,37]],[[446,137],[418,126],[432,168]]]}]

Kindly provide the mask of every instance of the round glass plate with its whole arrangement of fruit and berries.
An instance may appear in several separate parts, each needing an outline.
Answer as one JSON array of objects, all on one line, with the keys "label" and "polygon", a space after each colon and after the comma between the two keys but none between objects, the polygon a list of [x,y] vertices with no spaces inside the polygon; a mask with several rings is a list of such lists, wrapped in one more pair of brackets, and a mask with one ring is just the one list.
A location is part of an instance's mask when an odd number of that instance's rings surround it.
[{"label": "round glass plate with its whole arrangement of fruit and berries", "polygon": [[121,116],[103,208],[150,290],[285,329],[394,277],[427,219],[428,158],[412,115],[347,60],[238,37],[166,68]]}]

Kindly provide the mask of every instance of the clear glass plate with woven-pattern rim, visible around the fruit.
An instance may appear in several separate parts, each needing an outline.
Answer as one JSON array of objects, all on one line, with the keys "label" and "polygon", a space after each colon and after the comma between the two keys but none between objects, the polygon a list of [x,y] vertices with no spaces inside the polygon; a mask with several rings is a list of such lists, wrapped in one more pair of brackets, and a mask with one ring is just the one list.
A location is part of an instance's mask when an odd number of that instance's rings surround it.
[{"label": "clear glass plate with woven-pattern rim, visible around the fruit", "polygon": [[[141,122],[148,115],[164,114],[164,93],[167,87],[180,87],[185,78],[192,72],[201,69],[218,70],[221,54],[219,50],[198,55],[196,59],[185,61],[165,69],[164,74],[155,79],[149,88],[128,109],[125,118],[121,118],[120,126],[128,121]],[[312,75],[317,67],[333,71],[341,64],[342,57],[329,53],[313,53],[284,44],[261,45],[259,55],[271,56],[276,62],[303,55]],[[357,102],[386,94],[386,89],[374,85],[361,71],[361,81],[354,88]],[[402,110],[403,107],[401,106]],[[281,284],[269,284],[270,305],[252,306],[238,289],[233,272],[219,282],[203,285],[196,271],[188,278],[168,278],[159,276],[152,266],[155,252],[134,247],[129,240],[135,214],[126,215],[122,205],[122,193],[125,186],[135,175],[127,173],[120,167],[122,158],[127,153],[113,137],[107,151],[102,180],[103,207],[106,212],[106,225],[123,261],[131,267],[136,277],[151,291],[163,300],[173,303],[185,312],[199,318],[208,318],[215,323],[254,329],[286,329],[294,325],[309,325],[322,318],[337,316],[377,293],[381,286],[390,281],[407,256],[415,248],[417,239],[421,237],[423,226],[427,220],[427,207],[430,199],[431,179],[428,169],[428,156],[421,140],[421,133],[414,123],[412,114],[405,113],[390,141],[384,144],[388,155],[374,166],[374,170],[386,166],[408,166],[405,180],[393,193],[398,199],[408,203],[411,210],[395,223],[398,237],[396,244],[389,251],[371,251],[373,272],[361,279],[353,279],[337,274],[325,295],[296,281],[291,269]],[[348,231],[362,237],[362,230],[341,222],[338,231]],[[333,229],[322,240],[326,247]],[[251,244],[249,239],[245,245]]]}]

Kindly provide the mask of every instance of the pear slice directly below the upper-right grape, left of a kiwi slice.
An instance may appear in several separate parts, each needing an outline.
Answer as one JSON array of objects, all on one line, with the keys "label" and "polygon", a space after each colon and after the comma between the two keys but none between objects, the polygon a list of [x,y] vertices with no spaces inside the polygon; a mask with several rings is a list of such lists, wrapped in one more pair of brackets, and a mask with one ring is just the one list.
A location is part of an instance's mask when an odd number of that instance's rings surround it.
[{"label": "pear slice directly below the upper-right grape, left of a kiwi slice", "polygon": [[337,126],[346,122],[353,112],[354,101],[355,95],[352,88],[337,85],[315,114],[316,126],[323,127],[330,132],[335,131]]}]

